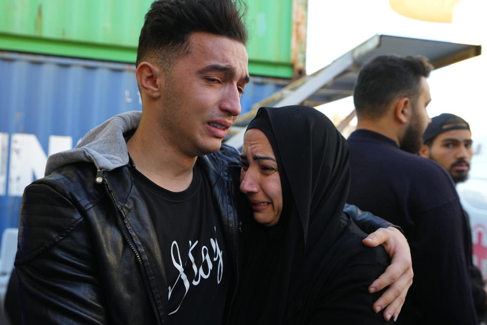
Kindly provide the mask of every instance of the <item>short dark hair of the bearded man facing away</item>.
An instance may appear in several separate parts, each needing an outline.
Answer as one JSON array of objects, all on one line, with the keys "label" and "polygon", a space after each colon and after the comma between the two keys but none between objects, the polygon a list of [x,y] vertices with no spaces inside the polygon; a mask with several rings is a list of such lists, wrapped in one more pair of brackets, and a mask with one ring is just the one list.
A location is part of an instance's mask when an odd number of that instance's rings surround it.
[{"label": "short dark hair of the bearded man facing away", "polygon": [[360,70],[355,82],[357,117],[379,118],[398,96],[418,100],[421,77],[428,78],[433,66],[420,55],[379,55]]}]

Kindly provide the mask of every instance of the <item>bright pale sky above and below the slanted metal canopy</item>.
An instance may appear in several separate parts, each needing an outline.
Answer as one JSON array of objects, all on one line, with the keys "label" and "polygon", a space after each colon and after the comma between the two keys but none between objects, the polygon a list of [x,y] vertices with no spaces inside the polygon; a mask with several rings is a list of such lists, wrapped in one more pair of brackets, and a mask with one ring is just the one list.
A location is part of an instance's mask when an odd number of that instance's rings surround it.
[{"label": "bright pale sky above and below the slanted metal canopy", "polygon": [[[375,34],[487,46],[487,1],[462,0],[452,23],[406,18],[389,0],[308,0],[306,73],[313,73]],[[482,48],[482,52],[487,47]],[[430,117],[453,113],[470,123],[472,138],[487,137],[487,56],[480,55],[435,70],[428,83]],[[352,98],[325,104],[327,115],[353,110]]]}]

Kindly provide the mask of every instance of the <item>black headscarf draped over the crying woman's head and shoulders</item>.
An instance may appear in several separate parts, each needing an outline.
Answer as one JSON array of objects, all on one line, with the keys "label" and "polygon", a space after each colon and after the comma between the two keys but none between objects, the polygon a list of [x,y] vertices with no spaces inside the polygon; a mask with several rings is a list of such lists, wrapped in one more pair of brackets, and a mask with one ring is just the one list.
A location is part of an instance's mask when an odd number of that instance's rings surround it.
[{"label": "black headscarf draped over the crying woman's head and shoulders", "polygon": [[284,207],[274,227],[244,220],[247,258],[232,323],[281,324],[301,308],[300,297],[312,299],[326,281],[323,256],[340,236],[350,186],[349,147],[307,106],[262,107],[250,128],[272,146]]}]

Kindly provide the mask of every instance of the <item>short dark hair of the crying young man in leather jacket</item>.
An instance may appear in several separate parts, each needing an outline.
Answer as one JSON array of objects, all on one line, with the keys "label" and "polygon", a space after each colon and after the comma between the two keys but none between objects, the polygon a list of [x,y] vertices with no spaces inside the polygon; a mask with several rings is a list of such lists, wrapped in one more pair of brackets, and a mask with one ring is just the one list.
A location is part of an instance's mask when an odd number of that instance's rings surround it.
[{"label": "short dark hair of the crying young man in leather jacket", "polygon": [[177,57],[189,53],[189,36],[196,31],[225,36],[246,45],[242,0],[157,0],[147,12],[138,38],[136,66],[155,60],[170,69]]}]

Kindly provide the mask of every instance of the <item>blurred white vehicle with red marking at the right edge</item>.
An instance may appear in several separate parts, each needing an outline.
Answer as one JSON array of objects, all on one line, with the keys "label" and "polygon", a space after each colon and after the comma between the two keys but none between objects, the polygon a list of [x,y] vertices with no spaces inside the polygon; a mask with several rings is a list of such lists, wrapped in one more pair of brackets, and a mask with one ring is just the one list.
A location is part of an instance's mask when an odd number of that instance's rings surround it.
[{"label": "blurred white vehicle with red marking at the right edge", "polygon": [[457,185],[460,201],[470,216],[473,263],[487,280],[487,137],[474,140],[469,179]]}]

